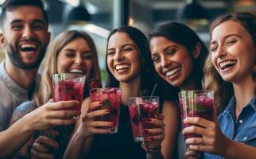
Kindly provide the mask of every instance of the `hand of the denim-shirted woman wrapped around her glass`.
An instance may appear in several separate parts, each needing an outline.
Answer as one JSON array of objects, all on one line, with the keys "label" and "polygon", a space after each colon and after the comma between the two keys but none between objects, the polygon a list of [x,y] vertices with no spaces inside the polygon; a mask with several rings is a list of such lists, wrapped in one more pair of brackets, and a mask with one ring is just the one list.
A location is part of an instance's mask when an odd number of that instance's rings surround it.
[{"label": "hand of the denim-shirted woman wrapped around her glass", "polygon": [[227,146],[227,137],[225,137],[216,122],[211,122],[204,118],[192,117],[185,118],[185,124],[193,124],[184,128],[182,134],[194,133],[201,134],[202,138],[188,138],[186,144],[189,149],[204,151],[208,153],[224,154]]}]

